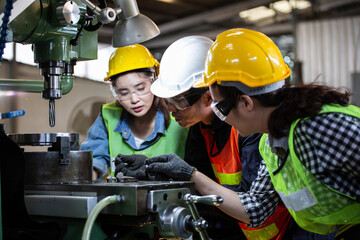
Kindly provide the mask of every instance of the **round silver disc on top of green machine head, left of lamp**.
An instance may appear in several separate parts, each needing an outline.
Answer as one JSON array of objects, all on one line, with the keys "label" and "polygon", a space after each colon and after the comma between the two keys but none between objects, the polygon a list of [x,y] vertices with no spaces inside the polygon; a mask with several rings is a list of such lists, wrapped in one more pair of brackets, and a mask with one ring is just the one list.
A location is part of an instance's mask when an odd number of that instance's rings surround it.
[{"label": "round silver disc on top of green machine head, left of lamp", "polygon": [[80,19],[79,6],[74,1],[67,1],[56,7],[56,18],[61,25],[73,25]]}]

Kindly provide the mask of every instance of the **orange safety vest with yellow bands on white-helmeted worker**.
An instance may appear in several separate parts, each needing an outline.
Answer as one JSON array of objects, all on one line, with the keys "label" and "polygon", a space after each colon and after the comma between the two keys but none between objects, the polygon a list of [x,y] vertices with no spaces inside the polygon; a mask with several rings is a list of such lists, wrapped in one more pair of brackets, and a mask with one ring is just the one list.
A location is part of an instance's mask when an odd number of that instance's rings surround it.
[{"label": "orange safety vest with yellow bands on white-helmeted worker", "polygon": [[[232,127],[230,137],[219,152],[211,130],[200,127],[205,138],[207,152],[216,179],[221,185],[238,185],[242,181],[241,158],[239,155],[239,132]],[[290,221],[290,213],[281,202],[275,212],[259,227],[251,228],[238,222],[249,240],[280,240]]]}]

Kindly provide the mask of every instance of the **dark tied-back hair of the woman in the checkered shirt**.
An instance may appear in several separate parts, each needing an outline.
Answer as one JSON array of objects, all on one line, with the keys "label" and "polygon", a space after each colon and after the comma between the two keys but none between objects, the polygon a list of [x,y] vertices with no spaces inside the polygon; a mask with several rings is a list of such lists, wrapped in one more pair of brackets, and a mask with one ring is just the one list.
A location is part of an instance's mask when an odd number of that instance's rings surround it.
[{"label": "dark tied-back hair of the woman in the checkered shirt", "polygon": [[[224,87],[217,84],[215,86],[218,87],[224,98],[243,95],[235,87]],[[343,92],[342,89],[312,83],[283,87],[271,93],[252,97],[259,100],[264,107],[276,107],[269,117],[268,129],[271,136],[281,138],[288,135],[290,126],[295,120],[316,116],[323,105],[347,106],[350,95],[347,89]]]}]

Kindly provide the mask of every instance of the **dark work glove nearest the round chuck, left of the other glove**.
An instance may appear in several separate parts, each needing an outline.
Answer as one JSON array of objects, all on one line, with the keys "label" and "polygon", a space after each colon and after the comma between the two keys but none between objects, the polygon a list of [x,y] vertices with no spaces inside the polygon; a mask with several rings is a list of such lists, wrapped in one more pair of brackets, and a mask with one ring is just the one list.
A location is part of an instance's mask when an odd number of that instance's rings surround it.
[{"label": "dark work glove nearest the round chuck, left of the other glove", "polygon": [[115,176],[122,172],[124,176],[134,177],[139,180],[148,180],[145,172],[146,156],[140,154],[118,154],[115,158]]}]

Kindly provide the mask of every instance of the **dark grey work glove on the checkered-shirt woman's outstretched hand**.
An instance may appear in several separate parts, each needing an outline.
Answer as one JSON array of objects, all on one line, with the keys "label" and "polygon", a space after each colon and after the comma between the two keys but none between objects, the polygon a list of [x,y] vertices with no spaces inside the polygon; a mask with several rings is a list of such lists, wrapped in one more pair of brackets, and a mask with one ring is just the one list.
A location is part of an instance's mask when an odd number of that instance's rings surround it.
[{"label": "dark grey work glove on the checkered-shirt woman's outstretched hand", "polygon": [[164,180],[164,175],[175,180],[190,181],[195,167],[190,166],[174,153],[159,155],[146,160],[147,172],[156,180]]}]

